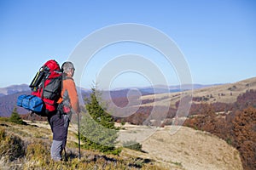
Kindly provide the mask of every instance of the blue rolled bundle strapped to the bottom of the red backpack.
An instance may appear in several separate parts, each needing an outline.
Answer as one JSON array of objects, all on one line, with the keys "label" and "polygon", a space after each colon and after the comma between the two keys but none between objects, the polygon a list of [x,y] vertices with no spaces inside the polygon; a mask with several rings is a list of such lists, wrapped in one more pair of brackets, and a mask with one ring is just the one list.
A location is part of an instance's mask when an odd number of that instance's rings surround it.
[{"label": "blue rolled bundle strapped to the bottom of the red backpack", "polygon": [[26,110],[40,113],[43,111],[44,101],[35,95],[20,95],[17,99],[17,105]]}]

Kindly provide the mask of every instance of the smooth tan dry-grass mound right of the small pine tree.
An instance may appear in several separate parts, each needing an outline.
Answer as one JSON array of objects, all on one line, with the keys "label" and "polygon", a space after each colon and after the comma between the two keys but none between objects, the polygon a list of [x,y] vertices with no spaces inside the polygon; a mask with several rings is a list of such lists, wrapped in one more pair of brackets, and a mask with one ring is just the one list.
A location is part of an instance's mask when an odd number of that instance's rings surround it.
[{"label": "smooth tan dry-grass mound right of the small pine tree", "polygon": [[[239,152],[211,133],[181,127],[177,133],[171,135],[171,127],[161,127],[142,139],[141,130],[147,132],[146,127],[129,124],[124,127],[126,132],[124,130],[123,133],[127,135],[122,136],[126,136],[126,139],[137,139],[143,144],[145,153],[140,153],[139,156],[155,160],[162,167],[191,170],[242,169]],[[131,131],[137,133],[130,133]],[[132,150],[125,150],[124,153],[131,156],[138,154]]]}]

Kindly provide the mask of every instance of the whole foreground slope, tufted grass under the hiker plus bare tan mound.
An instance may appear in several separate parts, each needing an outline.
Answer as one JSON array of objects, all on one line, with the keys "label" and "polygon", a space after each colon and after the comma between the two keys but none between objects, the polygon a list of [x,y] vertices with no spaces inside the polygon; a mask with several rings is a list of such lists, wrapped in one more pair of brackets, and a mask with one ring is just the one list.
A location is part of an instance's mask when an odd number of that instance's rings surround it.
[{"label": "whole foreground slope, tufted grass under the hiker plus bare tan mound", "polygon": [[[170,127],[155,128],[139,142],[144,152],[123,149],[119,156],[82,150],[78,159],[76,127],[67,139],[68,161],[50,160],[52,135],[48,122],[17,125],[0,121],[1,169],[242,169],[237,150],[210,133],[182,127],[171,135]],[[147,127],[125,124],[119,140],[140,139]],[[131,139],[126,139],[131,138]]]}]

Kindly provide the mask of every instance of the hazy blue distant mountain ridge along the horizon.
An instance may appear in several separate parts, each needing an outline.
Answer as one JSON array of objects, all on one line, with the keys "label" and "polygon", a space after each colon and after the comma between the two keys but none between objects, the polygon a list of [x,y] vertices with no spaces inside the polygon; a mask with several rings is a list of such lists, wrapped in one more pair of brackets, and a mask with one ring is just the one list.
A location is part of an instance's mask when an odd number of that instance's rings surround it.
[{"label": "hazy blue distant mountain ridge along the horizon", "polygon": [[[127,93],[131,93],[131,91],[137,90],[139,92],[139,95],[149,95],[149,94],[166,94],[166,93],[174,93],[174,92],[180,92],[183,90],[190,90],[191,88],[205,88],[210,87],[214,85],[201,85],[201,84],[192,84],[192,85],[183,85],[181,86],[154,86],[154,87],[144,87],[144,88],[118,88],[113,89],[110,91],[110,97],[112,99],[119,99],[119,98],[126,98]],[[17,98],[21,94],[30,94],[31,89],[28,87],[27,84],[20,84],[20,85],[12,85],[6,88],[0,88],[0,116],[10,116],[12,111],[14,110],[14,107],[16,106]],[[78,93],[79,93],[79,102],[81,105],[84,104],[84,97],[89,97],[90,95],[90,89],[86,88],[79,88],[77,87]],[[103,93],[103,99],[109,99],[109,91],[102,91]],[[138,95],[138,93],[131,93]],[[26,114],[28,111],[26,111],[23,108],[17,107],[18,112],[20,114]]]}]

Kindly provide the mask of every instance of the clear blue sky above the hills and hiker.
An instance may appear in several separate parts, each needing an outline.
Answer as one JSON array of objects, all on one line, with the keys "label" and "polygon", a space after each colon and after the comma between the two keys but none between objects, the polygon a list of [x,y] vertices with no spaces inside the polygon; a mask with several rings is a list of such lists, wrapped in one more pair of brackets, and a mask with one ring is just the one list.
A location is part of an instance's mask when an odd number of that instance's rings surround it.
[{"label": "clear blue sky above the hills and hiker", "polygon": [[[2,0],[0,87],[29,84],[46,60],[62,63],[91,32],[122,23],[151,26],[172,38],[187,60],[194,83],[237,82],[256,75],[253,0]],[[160,66],[168,84],[178,84],[173,68],[162,66],[162,56],[156,59],[153,54],[158,54],[152,49],[125,43],[102,49],[81,78],[83,88],[90,88],[108,62],[101,58],[104,52],[109,56],[143,54]],[[124,73],[112,86],[148,86],[148,80],[136,73]]]}]

